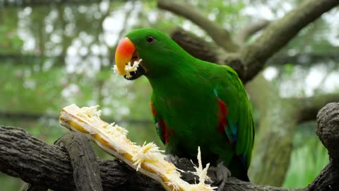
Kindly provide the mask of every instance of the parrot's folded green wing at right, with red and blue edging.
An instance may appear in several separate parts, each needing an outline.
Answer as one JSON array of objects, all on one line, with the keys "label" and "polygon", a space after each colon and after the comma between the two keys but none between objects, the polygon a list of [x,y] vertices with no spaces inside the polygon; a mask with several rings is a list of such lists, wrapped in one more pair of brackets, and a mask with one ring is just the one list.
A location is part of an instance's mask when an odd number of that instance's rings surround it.
[{"label": "parrot's folded green wing at right, with red and blue edging", "polygon": [[[229,66],[218,67],[220,83],[215,87],[220,113],[220,124],[232,144],[235,154],[249,168],[254,143],[254,121],[251,106],[242,81]],[[223,117],[223,118],[222,118]],[[218,127],[220,129],[220,127]]]}]

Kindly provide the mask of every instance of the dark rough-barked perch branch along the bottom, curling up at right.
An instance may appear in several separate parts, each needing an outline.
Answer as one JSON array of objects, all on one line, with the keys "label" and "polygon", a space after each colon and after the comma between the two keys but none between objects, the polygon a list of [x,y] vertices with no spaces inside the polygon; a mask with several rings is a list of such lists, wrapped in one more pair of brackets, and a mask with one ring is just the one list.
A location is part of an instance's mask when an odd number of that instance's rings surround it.
[{"label": "dark rough-barked perch branch along the bottom, curling up at right", "polygon": [[[317,134],[328,148],[331,161],[309,187],[297,190],[339,189],[339,103],[326,105],[318,115]],[[66,150],[51,146],[16,127],[0,127],[0,170],[8,175],[53,190],[73,190],[73,169]],[[306,160],[306,159],[305,159]],[[141,175],[119,161],[97,159],[104,190],[162,190],[155,180]],[[188,166],[189,164],[189,166]],[[182,166],[180,166],[182,165]],[[193,168],[180,159],[179,168]],[[194,181],[194,178],[189,178]],[[292,190],[253,185],[229,178],[224,190]]]}]

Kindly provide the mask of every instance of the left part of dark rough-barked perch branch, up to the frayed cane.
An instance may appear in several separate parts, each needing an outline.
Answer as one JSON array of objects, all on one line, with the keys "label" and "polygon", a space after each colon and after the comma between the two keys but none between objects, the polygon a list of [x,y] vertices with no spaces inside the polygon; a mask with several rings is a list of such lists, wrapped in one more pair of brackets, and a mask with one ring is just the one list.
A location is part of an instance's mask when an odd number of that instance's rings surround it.
[{"label": "left part of dark rough-barked perch branch, up to the frayed cane", "polygon": [[[33,185],[73,190],[71,158],[64,147],[49,145],[16,127],[0,126],[0,170]],[[162,190],[160,184],[120,161],[97,159],[104,190]]]}]

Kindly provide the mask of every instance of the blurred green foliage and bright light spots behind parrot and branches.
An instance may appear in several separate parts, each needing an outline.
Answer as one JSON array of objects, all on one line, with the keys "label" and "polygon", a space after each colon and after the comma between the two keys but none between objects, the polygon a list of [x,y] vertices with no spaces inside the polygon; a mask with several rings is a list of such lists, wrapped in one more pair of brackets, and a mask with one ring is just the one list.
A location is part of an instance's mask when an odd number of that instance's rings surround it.
[{"label": "blurred green foliage and bright light spots behind parrot and branches", "polygon": [[[155,0],[41,2],[0,1],[0,125],[21,127],[53,144],[67,132],[59,125],[61,108],[71,103],[101,105],[102,119],[126,127],[132,141],[155,141],[163,148],[153,127],[147,79],[126,81],[112,71],[117,42],[134,28],[169,34],[181,26],[208,42],[210,37],[191,21],[157,8]],[[236,35],[248,23],[284,16],[301,1],[186,3]],[[339,11],[334,8],[304,28],[260,75],[281,99],[339,94],[338,31]],[[259,109],[254,104],[257,124]],[[293,149],[283,187],[307,186],[328,163],[315,120],[299,122],[290,134]],[[112,158],[96,151],[101,158]],[[251,168],[256,170],[255,162]],[[22,184],[0,173],[0,190],[19,190]]]}]

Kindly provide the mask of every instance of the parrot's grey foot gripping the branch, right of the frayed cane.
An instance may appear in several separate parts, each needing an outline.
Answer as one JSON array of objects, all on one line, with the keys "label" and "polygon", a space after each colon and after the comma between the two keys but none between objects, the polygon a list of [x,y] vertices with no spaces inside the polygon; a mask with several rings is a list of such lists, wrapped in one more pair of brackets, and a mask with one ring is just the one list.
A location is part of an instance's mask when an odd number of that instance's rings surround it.
[{"label": "parrot's grey foot gripping the branch, right of the frayed cane", "polygon": [[218,186],[218,191],[222,191],[224,189],[225,183],[227,183],[227,179],[231,175],[231,171],[224,166],[224,163],[221,162],[217,167],[211,166],[210,170],[215,173],[215,180],[213,180],[213,186]]}]

